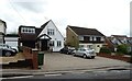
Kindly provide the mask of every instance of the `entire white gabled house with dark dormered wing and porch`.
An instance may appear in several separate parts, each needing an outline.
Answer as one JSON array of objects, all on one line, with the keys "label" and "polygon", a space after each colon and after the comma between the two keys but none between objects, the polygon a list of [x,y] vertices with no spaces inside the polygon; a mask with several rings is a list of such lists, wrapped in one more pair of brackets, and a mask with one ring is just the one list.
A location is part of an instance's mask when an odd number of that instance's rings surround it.
[{"label": "entire white gabled house with dark dormered wing and porch", "polygon": [[40,50],[59,51],[64,47],[64,37],[52,20],[41,27],[23,26],[19,27],[19,46],[38,48]]}]

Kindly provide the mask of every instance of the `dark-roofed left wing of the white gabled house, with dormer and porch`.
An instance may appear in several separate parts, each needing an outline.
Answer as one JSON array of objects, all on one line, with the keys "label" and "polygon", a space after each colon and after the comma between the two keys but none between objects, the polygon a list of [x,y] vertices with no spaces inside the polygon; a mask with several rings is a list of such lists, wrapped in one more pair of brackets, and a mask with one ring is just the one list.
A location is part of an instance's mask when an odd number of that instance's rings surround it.
[{"label": "dark-roofed left wing of the white gabled house, with dormer and porch", "polygon": [[46,34],[37,36],[38,32],[41,32],[41,28],[36,28],[35,26],[19,26],[19,47],[26,46],[38,48],[40,50],[47,50],[47,42],[51,37]]}]

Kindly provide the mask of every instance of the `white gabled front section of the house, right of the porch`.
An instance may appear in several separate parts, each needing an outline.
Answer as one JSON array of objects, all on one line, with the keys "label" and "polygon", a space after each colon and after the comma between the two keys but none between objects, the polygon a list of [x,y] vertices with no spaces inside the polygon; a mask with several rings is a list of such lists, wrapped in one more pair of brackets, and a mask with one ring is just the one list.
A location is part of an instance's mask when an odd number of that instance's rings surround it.
[{"label": "white gabled front section of the house, right of the porch", "polygon": [[58,31],[56,25],[52,20],[46,22],[41,26],[41,32],[38,36],[46,34],[48,35],[52,39],[50,40],[48,45],[52,45],[53,51],[59,51],[64,47],[64,36],[62,33]]}]

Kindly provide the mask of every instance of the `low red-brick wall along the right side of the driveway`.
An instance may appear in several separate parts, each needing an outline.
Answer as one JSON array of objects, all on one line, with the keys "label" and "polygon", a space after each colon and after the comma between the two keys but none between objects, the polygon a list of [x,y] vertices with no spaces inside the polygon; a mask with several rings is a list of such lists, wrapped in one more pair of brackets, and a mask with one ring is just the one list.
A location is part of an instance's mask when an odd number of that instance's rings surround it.
[{"label": "low red-brick wall along the right side of the driveway", "polygon": [[97,56],[132,62],[132,57],[124,57],[123,55],[111,55],[111,54],[99,53],[97,54]]}]

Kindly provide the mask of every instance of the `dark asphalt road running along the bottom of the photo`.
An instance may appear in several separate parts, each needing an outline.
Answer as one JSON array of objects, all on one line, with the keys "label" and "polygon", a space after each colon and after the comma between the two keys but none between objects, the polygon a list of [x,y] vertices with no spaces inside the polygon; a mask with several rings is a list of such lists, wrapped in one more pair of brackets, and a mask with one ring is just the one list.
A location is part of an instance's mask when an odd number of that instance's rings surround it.
[{"label": "dark asphalt road running along the bottom of the photo", "polygon": [[45,79],[131,79],[132,72],[130,70],[107,70],[107,71],[85,71],[72,73],[56,73],[56,74],[41,74],[29,77],[7,78],[3,81],[18,81],[18,80],[45,80]]}]

